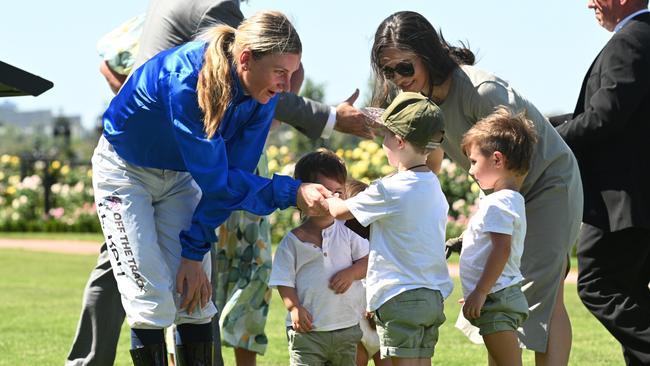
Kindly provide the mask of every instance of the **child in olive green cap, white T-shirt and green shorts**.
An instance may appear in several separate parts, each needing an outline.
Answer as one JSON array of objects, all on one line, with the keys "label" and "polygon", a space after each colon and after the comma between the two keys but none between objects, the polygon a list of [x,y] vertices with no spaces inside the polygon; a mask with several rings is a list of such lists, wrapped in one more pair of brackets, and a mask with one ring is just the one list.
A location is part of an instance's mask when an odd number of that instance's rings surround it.
[{"label": "child in olive green cap, white T-shirt and green shorts", "polygon": [[381,119],[383,148],[397,172],[355,197],[327,202],[337,219],[373,224],[366,296],[381,357],[393,365],[430,365],[445,321],[443,300],[453,288],[444,253],[449,205],[426,165],[442,141],[442,113],[421,94],[404,92]]}]

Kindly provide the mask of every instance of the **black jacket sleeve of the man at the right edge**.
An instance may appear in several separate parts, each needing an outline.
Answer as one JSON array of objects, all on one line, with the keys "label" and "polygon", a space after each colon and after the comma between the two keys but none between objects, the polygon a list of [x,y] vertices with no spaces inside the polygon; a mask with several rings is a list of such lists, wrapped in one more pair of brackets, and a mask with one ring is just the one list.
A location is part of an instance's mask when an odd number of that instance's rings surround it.
[{"label": "black jacket sleeve of the man at the right edge", "polygon": [[583,93],[591,94],[584,110],[556,127],[572,149],[606,143],[612,133],[623,131],[648,94],[649,50],[629,34],[616,34],[610,42],[583,85]]}]

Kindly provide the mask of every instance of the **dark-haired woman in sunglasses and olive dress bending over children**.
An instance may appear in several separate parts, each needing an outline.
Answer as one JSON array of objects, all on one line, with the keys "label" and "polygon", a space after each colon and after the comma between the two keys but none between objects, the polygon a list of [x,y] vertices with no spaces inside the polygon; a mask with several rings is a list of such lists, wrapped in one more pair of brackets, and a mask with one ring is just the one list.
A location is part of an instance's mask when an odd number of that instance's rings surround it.
[{"label": "dark-haired woman in sunglasses and olive dress bending over children", "polygon": [[[373,105],[385,106],[393,91],[420,92],[443,111],[442,147],[469,170],[460,142],[463,134],[499,105],[525,112],[539,142],[521,194],[526,199],[528,231],[521,261],[530,317],[519,329],[539,365],[566,365],[571,323],[564,307],[563,281],[568,254],[582,218],[582,183],[571,150],[535,106],[508,83],[473,66],[474,54],[448,44],[422,15],[398,12],[375,33],[371,62],[377,78]],[[442,151],[430,156],[437,171]]]}]

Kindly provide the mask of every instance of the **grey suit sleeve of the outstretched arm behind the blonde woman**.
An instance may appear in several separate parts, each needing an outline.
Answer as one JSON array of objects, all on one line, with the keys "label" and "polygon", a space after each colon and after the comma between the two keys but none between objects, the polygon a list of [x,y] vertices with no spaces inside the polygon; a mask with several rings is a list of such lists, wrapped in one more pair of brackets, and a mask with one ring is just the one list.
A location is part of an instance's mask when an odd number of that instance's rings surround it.
[{"label": "grey suit sleeve of the outstretched arm behind the blonde woman", "polygon": [[275,109],[275,119],[288,123],[310,139],[323,133],[330,107],[293,93],[282,93]]}]

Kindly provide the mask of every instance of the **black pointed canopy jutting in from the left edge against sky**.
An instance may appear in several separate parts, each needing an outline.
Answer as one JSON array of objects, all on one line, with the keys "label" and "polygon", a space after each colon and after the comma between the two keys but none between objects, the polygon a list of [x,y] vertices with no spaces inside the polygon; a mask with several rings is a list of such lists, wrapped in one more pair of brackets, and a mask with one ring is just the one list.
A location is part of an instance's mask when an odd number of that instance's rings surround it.
[{"label": "black pointed canopy jutting in from the left edge against sky", "polygon": [[37,96],[53,86],[54,84],[49,80],[0,61],[0,98]]}]

